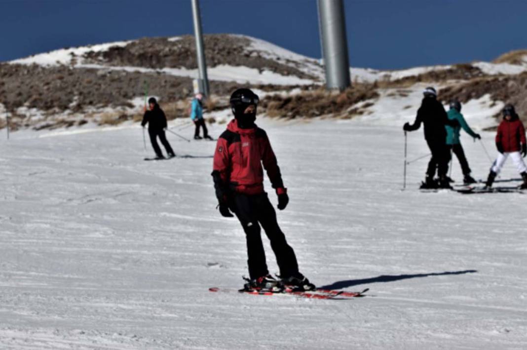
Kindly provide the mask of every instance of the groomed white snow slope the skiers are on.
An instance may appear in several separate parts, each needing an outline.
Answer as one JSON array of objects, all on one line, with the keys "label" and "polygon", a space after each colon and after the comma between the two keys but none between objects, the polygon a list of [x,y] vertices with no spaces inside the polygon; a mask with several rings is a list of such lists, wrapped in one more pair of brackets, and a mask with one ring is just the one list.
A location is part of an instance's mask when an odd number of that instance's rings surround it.
[{"label": "groomed white snow slope the skiers are on", "polygon": [[[215,209],[214,142],[169,133],[180,157],[145,162],[139,125],[22,131],[0,141],[0,347],[527,347],[525,195],[421,193],[426,160],[408,166],[401,191],[402,125],[258,123],[288,187],[278,220],[301,271],[367,297],[208,291],[247,274],[241,227]],[[493,133],[482,135],[494,155]],[[462,140],[474,177],[486,177],[481,144]],[[422,131],[409,133],[408,160],[426,153]],[[518,178],[507,163],[501,180]]]}]

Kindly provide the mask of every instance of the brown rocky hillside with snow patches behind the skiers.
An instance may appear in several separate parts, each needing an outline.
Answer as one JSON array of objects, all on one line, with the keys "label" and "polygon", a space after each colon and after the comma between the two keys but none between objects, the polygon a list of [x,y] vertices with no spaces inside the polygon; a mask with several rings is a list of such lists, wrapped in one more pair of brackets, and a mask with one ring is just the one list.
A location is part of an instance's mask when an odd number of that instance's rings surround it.
[{"label": "brown rocky hillside with snow patches behind the skiers", "polygon": [[[352,88],[335,93],[325,91],[318,60],[242,35],[206,35],[204,45],[212,114],[228,108],[232,90],[250,86],[262,95],[269,116],[374,121],[393,107],[393,115],[407,118],[415,113],[423,86],[434,85],[444,102],[477,101],[490,116],[511,102],[527,117],[527,51],[493,62],[402,71],[350,68]],[[158,96],[169,119],[180,118],[187,116],[196,76],[190,35],[64,48],[0,63],[0,112],[11,116],[14,130],[118,124],[141,118],[147,94]],[[487,120],[482,128],[495,124]]]}]

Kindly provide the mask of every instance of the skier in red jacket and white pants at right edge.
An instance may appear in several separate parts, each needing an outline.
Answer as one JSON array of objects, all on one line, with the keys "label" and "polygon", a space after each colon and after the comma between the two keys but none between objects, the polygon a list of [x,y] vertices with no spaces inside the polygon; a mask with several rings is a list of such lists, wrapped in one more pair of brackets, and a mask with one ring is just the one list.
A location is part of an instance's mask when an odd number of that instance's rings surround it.
[{"label": "skier in red jacket and white pants at right edge", "polygon": [[485,187],[490,188],[492,186],[492,183],[503,167],[503,164],[505,164],[507,158],[511,157],[523,179],[520,188],[527,189],[527,167],[522,158],[527,155],[525,128],[512,104],[505,105],[502,113],[503,120],[497,128],[496,133],[496,148],[500,153],[492,164]]}]

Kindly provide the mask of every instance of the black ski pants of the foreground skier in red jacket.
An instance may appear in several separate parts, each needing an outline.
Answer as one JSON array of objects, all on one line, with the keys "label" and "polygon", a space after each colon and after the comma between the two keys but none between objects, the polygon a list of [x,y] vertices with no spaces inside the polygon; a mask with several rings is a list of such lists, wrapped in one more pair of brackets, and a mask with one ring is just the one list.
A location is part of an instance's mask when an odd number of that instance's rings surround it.
[{"label": "black ski pants of the foreground skier in red jacket", "polygon": [[236,193],[231,209],[240,220],[247,239],[247,264],[249,276],[255,279],[269,274],[261,239],[260,225],[271,243],[272,251],[280,269],[280,276],[287,278],[298,274],[298,263],[293,249],[287,244],[284,232],[278,227],[275,208],[272,207],[267,193],[243,195]]}]

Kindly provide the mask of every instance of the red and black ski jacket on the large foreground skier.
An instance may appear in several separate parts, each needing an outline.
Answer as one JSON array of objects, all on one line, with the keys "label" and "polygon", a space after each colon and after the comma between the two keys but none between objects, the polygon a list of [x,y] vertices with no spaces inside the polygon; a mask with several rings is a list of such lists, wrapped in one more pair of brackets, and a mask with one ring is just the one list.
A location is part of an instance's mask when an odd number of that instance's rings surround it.
[{"label": "red and black ski jacket on the large foreground skier", "polygon": [[257,195],[264,192],[262,164],[277,193],[285,191],[266,132],[256,125],[251,129],[240,129],[233,119],[218,138],[213,173],[219,172],[221,182],[230,190]]}]

